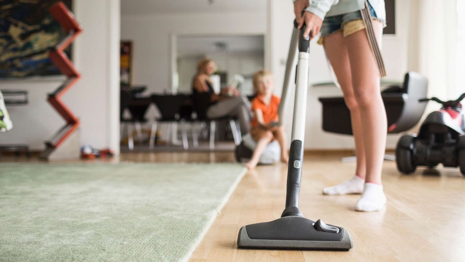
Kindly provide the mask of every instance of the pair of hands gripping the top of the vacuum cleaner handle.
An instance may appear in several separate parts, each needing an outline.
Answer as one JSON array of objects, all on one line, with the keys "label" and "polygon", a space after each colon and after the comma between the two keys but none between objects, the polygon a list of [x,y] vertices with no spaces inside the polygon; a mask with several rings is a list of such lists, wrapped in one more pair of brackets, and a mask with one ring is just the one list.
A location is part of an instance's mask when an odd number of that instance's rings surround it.
[{"label": "pair of hands gripping the top of the vacuum cleaner handle", "polygon": [[321,29],[321,25],[323,24],[323,20],[319,18],[316,14],[310,12],[304,12],[302,15],[302,10],[306,9],[309,6],[308,0],[297,0],[294,2],[294,14],[297,23],[299,24],[299,29],[302,28],[304,22],[306,24],[306,29],[304,32],[304,37],[307,37],[310,32],[310,39],[315,37]]}]

